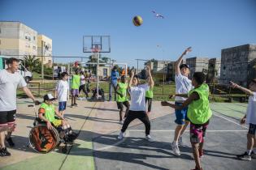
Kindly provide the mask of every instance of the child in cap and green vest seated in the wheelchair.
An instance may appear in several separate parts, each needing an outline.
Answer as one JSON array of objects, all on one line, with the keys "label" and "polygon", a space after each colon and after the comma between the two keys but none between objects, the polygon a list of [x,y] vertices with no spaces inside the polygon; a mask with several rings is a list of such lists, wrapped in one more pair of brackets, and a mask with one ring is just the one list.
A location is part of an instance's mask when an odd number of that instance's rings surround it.
[{"label": "child in cap and green vest seated in the wheelchair", "polygon": [[[44,96],[44,102],[38,110],[38,117],[41,121],[45,121],[47,128],[51,130],[54,126],[57,130],[61,128],[59,137],[63,138],[65,142],[73,142],[77,135],[72,132],[72,128],[64,117],[59,114],[54,107],[53,101],[56,100],[51,94]],[[58,117],[55,117],[58,116]]]}]

